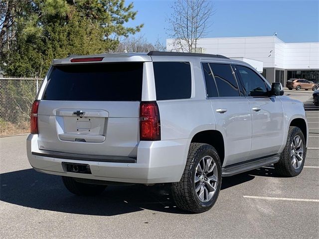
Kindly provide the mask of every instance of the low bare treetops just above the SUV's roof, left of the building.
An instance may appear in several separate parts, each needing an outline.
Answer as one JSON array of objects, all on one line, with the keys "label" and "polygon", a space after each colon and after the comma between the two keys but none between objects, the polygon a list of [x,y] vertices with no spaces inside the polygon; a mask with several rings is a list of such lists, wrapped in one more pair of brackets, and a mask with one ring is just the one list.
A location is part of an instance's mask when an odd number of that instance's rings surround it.
[{"label": "low bare treetops just above the SUV's roof, left of the building", "polygon": [[116,52],[149,52],[157,50],[144,36],[130,37],[120,41]]}]

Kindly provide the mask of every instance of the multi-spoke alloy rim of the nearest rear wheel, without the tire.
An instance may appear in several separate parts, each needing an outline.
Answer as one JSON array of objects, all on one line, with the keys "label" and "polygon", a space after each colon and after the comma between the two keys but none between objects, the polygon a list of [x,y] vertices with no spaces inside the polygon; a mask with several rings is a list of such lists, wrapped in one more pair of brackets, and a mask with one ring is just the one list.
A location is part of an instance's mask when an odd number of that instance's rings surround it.
[{"label": "multi-spoke alloy rim of the nearest rear wheel, without the tire", "polygon": [[202,157],[195,172],[195,192],[198,199],[208,202],[217,190],[218,170],[211,156]]}]

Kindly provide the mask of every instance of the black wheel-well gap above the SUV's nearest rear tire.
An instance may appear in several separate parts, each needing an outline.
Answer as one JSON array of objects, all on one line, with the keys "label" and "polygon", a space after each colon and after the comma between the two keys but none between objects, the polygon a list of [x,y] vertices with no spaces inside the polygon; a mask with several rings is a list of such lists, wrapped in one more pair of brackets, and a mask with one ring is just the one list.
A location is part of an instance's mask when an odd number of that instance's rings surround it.
[{"label": "black wheel-well gap above the SUV's nearest rear tire", "polygon": [[197,132],[191,139],[191,143],[207,143],[212,145],[218,152],[221,165],[225,158],[225,143],[222,133],[218,130],[203,130]]}]

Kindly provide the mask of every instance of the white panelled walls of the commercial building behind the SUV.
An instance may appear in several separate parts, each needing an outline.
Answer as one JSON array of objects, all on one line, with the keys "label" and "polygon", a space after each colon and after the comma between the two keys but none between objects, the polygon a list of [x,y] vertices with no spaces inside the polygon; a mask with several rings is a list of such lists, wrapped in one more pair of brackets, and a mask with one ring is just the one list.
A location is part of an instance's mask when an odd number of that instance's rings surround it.
[{"label": "white panelled walls of the commercial building behind the SUV", "polygon": [[[166,40],[168,51],[174,39]],[[319,42],[285,43],[276,36],[201,38],[196,51],[219,54],[243,60],[258,71],[263,62],[262,74],[269,82],[286,84],[287,79],[304,78],[319,82]],[[249,60],[254,60],[255,62]]]}]

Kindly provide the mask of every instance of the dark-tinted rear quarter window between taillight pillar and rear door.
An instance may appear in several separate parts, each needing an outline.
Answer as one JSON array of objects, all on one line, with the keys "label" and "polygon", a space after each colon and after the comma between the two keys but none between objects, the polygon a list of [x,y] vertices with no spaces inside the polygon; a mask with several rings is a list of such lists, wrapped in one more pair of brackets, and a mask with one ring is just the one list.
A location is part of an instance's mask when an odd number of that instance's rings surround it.
[{"label": "dark-tinted rear quarter window between taillight pillar and rear door", "polygon": [[188,99],[191,73],[188,62],[154,62],[157,100]]}]

